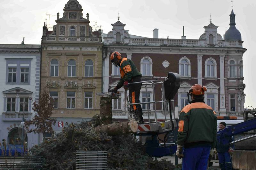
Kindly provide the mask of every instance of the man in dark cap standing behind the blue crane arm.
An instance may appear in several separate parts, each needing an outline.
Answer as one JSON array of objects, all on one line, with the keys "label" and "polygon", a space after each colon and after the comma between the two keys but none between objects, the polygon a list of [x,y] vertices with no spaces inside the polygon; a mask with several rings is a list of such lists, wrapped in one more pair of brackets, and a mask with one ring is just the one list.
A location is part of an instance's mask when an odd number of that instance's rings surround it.
[{"label": "man in dark cap standing behind the blue crane arm", "polygon": [[[226,128],[225,122],[220,122],[220,129],[219,131]],[[229,138],[229,137],[228,137]],[[232,137],[229,138],[229,142],[232,142]],[[233,153],[233,145],[224,145],[221,140],[217,141],[217,152],[218,152],[218,158],[219,158],[219,164],[221,170],[232,170],[232,163],[230,155]]]}]

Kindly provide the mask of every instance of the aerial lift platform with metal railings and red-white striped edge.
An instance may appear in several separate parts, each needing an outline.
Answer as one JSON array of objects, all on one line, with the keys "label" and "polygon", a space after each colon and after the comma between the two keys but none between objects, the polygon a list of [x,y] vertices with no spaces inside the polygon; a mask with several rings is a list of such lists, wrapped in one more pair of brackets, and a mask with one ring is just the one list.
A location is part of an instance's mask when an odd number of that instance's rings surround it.
[{"label": "aerial lift platform with metal railings and red-white striped edge", "polygon": [[[128,95],[127,91],[125,91],[125,107],[129,107],[130,105],[134,104],[147,104],[148,110],[148,122],[144,124],[138,125],[138,131],[134,134],[136,136],[151,136],[152,140],[148,140],[145,143],[146,152],[149,156],[153,157],[162,157],[173,154],[176,152],[176,145],[169,145],[166,146],[166,139],[169,132],[173,131],[176,128],[176,120],[174,114],[174,96],[177,93],[178,89],[180,88],[180,75],[177,73],[169,72],[166,79],[164,81],[140,81],[134,82],[129,84],[136,84],[142,83],[142,87],[145,87],[146,94],[148,94],[148,89],[152,88],[153,92],[153,101],[146,101],[141,103],[129,103],[128,102]],[[163,100],[156,101],[155,95],[155,86],[156,85],[162,86],[162,96]],[[168,103],[167,103],[168,102]],[[149,111],[149,104],[153,103],[154,105],[154,112],[155,112],[155,120],[152,122],[150,121],[150,111]],[[164,121],[159,121],[157,118],[156,113],[156,103],[162,103],[164,107]],[[169,105],[169,112],[170,112],[170,119],[166,117],[166,105]],[[172,109],[171,109],[172,108]],[[172,117],[172,110],[173,110],[173,117]],[[158,135],[166,133],[164,136],[164,144],[159,145],[158,142]]]}]

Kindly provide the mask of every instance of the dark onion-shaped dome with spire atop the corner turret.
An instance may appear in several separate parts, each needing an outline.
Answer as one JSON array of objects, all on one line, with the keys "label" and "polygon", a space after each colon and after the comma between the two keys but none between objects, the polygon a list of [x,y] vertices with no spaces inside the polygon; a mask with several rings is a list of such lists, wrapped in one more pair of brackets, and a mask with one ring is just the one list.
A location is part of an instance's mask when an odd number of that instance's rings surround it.
[{"label": "dark onion-shaped dome with spire atop the corner turret", "polygon": [[230,16],[230,27],[228,31],[225,33],[224,40],[242,40],[241,33],[236,29],[236,22],[235,22],[235,14],[233,12],[233,9],[231,11]]}]

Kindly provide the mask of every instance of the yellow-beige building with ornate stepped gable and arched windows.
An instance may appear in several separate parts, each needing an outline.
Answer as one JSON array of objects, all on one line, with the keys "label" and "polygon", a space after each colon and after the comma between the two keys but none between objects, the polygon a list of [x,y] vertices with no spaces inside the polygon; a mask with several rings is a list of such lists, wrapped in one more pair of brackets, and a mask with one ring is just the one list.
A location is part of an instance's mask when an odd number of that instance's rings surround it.
[{"label": "yellow-beige building with ornate stepped gable and arched windows", "polygon": [[[78,1],[69,0],[53,31],[43,27],[41,91],[54,98],[52,117],[61,123],[76,123],[99,113],[102,91],[101,32],[92,31],[89,14],[83,17]],[[60,126],[60,127],[59,127]]]}]

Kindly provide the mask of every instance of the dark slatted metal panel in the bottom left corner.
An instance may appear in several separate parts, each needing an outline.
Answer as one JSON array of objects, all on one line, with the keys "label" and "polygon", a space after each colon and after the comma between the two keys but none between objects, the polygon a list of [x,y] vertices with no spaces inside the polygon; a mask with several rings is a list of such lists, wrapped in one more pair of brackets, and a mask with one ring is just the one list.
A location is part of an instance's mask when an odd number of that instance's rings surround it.
[{"label": "dark slatted metal panel in the bottom left corner", "polygon": [[0,156],[0,169],[42,170],[43,156]]}]

